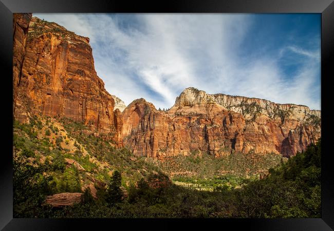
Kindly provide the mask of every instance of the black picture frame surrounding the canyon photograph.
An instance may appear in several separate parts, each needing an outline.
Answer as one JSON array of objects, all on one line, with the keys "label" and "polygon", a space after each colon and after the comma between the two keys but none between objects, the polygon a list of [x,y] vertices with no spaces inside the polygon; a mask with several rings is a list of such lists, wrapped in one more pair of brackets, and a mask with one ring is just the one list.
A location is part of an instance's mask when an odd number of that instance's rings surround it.
[{"label": "black picture frame surrounding the canyon photograph", "polygon": [[[12,192],[12,14],[13,13],[89,13],[89,12],[156,12],[156,13],[321,13],[321,110],[322,110],[322,217],[309,219],[186,219],[190,225],[208,224],[248,230],[333,230],[334,228],[334,178],[331,177],[332,164],[330,151],[330,79],[333,71],[334,45],[334,3],[333,0],[173,0],[155,1],[144,4],[141,1],[92,1],[92,0],[0,0],[0,45],[1,45],[1,108],[5,118],[2,120],[3,147],[0,159],[0,228],[3,230],[61,230],[97,228],[116,221],[115,219],[13,219]],[[7,121],[8,120],[8,121]],[[4,126],[6,125],[6,126]],[[327,135],[326,135],[327,134]],[[144,219],[147,228],[160,228],[160,219]],[[166,222],[171,228],[171,219]],[[132,220],[142,223],[143,220]],[[165,220],[164,220],[165,221]],[[182,220],[184,221],[184,220]],[[221,223],[221,224],[220,224]],[[80,226],[80,227],[79,227]],[[168,226],[164,226],[168,227]],[[212,226],[212,228],[214,228]],[[219,229],[220,229],[219,228]]]}]

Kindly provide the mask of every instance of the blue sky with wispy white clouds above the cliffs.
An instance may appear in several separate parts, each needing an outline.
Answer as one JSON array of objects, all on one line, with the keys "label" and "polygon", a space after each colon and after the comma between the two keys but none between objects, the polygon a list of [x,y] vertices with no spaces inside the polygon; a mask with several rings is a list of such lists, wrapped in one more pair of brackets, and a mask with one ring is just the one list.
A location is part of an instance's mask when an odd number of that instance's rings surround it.
[{"label": "blue sky with wispy white clouds above the cliffs", "polygon": [[321,14],[33,14],[90,38],[125,104],[170,108],[187,87],[321,109]]}]

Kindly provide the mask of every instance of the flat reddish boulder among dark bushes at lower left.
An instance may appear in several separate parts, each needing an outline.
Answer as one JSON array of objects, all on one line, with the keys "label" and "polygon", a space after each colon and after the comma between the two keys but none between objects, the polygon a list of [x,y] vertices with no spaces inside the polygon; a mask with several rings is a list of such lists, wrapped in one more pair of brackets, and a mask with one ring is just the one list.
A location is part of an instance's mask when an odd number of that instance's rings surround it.
[{"label": "flat reddish boulder among dark bushes at lower left", "polygon": [[46,203],[52,207],[60,207],[66,205],[73,205],[81,201],[81,192],[63,192],[61,194],[54,194],[46,197]]}]

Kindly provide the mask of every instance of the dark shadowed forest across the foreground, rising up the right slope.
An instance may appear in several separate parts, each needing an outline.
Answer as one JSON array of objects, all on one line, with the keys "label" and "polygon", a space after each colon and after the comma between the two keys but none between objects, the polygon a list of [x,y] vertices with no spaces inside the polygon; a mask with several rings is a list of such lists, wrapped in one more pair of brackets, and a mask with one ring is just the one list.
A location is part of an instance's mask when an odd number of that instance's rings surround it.
[{"label": "dark shadowed forest across the foreground, rising up the right slope", "polygon": [[[292,157],[281,167],[272,169],[272,175],[256,181],[245,181],[240,189],[216,186],[215,190],[198,191],[174,184],[151,187],[150,182],[164,177],[150,175],[137,185],[128,188],[128,198],[118,206],[109,207],[104,202],[103,190],[100,199],[89,206],[84,204],[66,208],[66,217],[96,217],[95,211],[103,211],[103,217],[117,217],[117,213],[128,213],[131,217],[196,218],[278,218],[278,217],[320,217],[320,143],[311,146],[299,156]],[[114,183],[120,185],[120,174]],[[217,179],[218,180],[218,179]],[[108,195],[108,190],[105,193]],[[108,198],[108,197],[106,197]],[[65,213],[65,210],[63,211]],[[62,217],[64,214],[53,214]],[[157,217],[157,216],[153,216]]]}]

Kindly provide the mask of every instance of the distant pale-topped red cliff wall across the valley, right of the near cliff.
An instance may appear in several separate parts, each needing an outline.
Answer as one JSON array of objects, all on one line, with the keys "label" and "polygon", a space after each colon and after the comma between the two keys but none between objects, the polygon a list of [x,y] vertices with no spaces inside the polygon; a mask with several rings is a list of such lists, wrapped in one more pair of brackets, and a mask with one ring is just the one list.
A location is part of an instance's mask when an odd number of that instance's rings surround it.
[{"label": "distant pale-topped red cliff wall across the valley, right of the near cliff", "polygon": [[[249,151],[293,156],[305,150],[312,139],[320,137],[317,111],[297,105],[277,107],[283,109],[275,116],[268,113],[243,115],[227,110],[212,95],[194,88],[185,89],[167,112],[158,111],[151,103],[140,99],[123,111],[124,144],[133,149],[135,155],[149,157],[189,155],[194,151],[206,151],[215,156]],[[283,113],[291,108],[299,113]],[[319,124],[312,123],[317,119]]]}]

